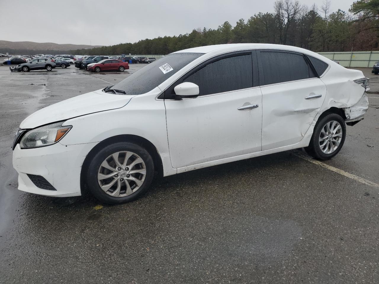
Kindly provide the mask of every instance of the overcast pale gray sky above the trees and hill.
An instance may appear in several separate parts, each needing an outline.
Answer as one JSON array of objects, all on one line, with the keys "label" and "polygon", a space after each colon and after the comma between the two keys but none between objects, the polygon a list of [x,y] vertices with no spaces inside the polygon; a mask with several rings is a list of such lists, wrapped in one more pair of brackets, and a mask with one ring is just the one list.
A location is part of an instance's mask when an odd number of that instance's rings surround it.
[{"label": "overcast pale gray sky above the trees and hill", "polygon": [[[348,12],[353,2],[331,0],[331,11]],[[2,29],[0,39],[92,45],[136,42],[190,33],[194,28],[217,28],[225,21],[234,26],[238,19],[273,12],[273,3],[274,0],[0,0],[0,6],[8,6],[0,17],[0,27],[7,27]],[[323,0],[300,3],[316,3],[320,8]]]}]

